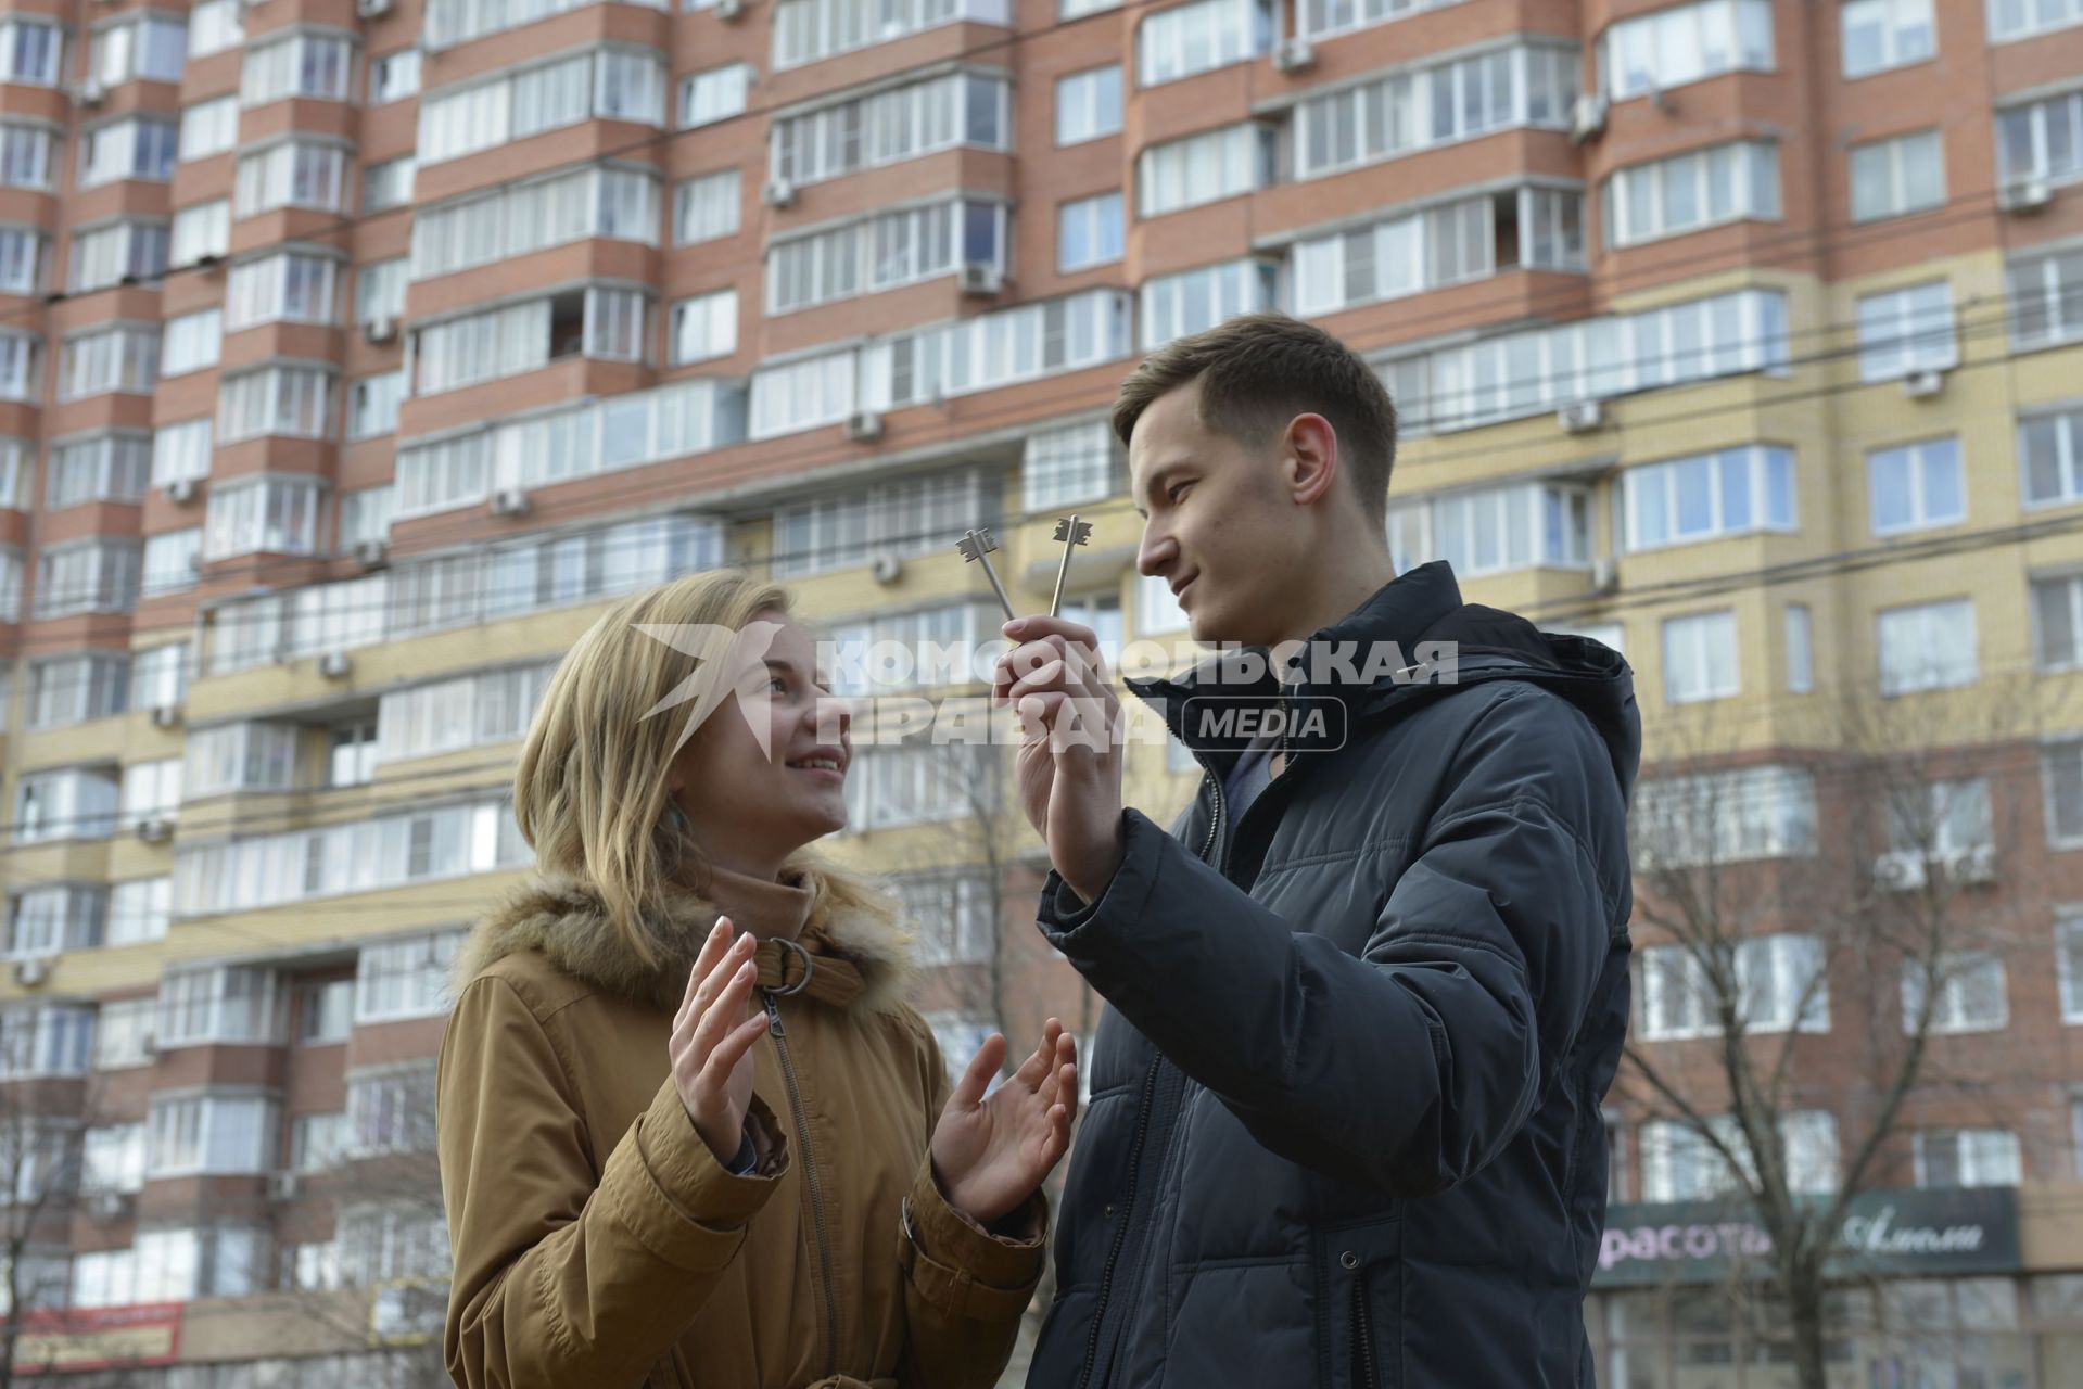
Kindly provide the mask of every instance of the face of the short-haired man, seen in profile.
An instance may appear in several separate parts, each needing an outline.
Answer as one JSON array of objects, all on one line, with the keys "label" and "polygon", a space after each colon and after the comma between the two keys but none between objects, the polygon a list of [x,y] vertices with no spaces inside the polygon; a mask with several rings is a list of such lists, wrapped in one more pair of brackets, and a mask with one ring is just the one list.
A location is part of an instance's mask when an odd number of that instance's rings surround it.
[{"label": "face of the short-haired man, seen in profile", "polygon": [[1310,564],[1306,508],[1287,491],[1285,437],[1264,446],[1200,423],[1200,381],[1144,410],[1129,437],[1129,496],[1144,516],[1135,569],[1162,575],[1196,641],[1285,639],[1283,594]]}]

